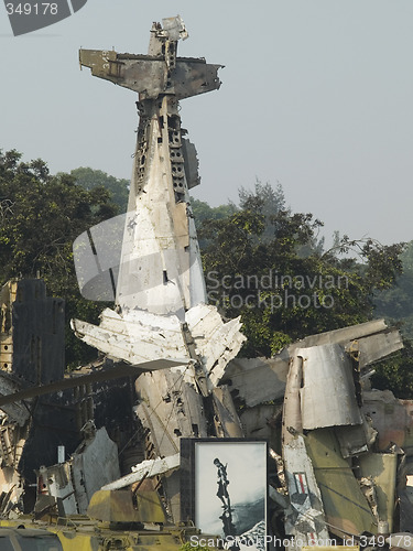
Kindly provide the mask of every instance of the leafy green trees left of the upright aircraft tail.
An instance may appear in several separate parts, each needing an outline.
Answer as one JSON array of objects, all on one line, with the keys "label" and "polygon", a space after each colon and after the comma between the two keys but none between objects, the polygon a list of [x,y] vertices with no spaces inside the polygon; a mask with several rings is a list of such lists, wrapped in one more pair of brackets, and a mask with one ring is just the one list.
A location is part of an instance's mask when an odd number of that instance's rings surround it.
[{"label": "leafy green trees left of the upright aircraft tail", "polygon": [[65,299],[66,363],[78,365],[96,350],[74,336],[69,318],[97,321],[102,305],[81,299],[72,244],[118,207],[104,187],[87,191],[68,174],[51,176],[42,160],[24,163],[21,156],[15,150],[0,152],[0,282],[40,276],[48,294]]}]

